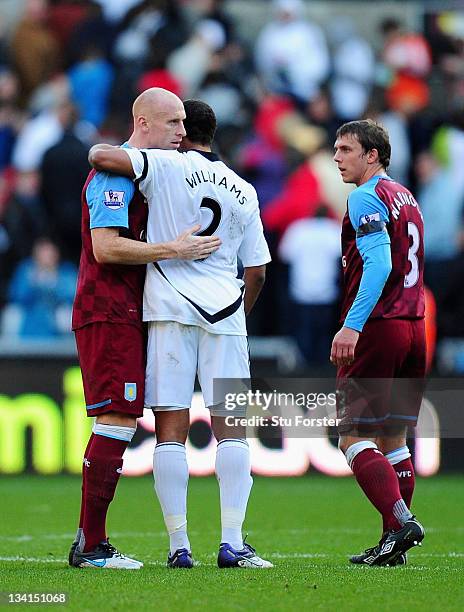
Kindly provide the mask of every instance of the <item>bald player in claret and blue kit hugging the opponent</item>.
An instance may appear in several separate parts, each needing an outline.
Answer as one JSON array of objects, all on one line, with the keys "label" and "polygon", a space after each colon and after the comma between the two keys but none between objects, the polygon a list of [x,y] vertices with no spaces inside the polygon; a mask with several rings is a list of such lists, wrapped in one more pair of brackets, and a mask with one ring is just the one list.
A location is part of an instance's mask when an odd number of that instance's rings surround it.
[{"label": "bald player in claret and blue kit hugging the opponent", "polygon": [[[182,101],[149,89],[134,102],[134,131],[126,148],[175,150],[185,135]],[[142,296],[145,264],[202,260],[220,240],[193,236],[147,244],[148,209],[134,183],[92,170],[82,194],[82,253],[73,308],[73,330],[89,417],[96,417],[84,453],[82,503],[69,564],[73,567],[138,569],[106,536],[106,514],[122,471],[122,456],[143,414],[145,339]],[[121,265],[125,264],[125,265]]]}]

